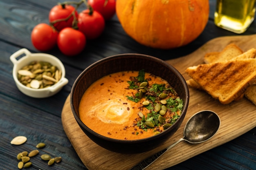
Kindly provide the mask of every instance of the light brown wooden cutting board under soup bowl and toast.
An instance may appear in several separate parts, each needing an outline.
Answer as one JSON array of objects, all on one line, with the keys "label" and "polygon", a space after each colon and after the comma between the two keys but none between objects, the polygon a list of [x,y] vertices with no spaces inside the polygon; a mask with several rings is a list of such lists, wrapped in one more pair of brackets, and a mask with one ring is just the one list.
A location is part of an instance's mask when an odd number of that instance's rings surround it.
[{"label": "light brown wooden cutting board under soup bowl and toast", "polygon": [[[256,48],[256,35],[216,38],[187,56],[168,60],[167,62],[177,68],[185,79],[189,79],[189,76],[184,71],[188,66],[202,64],[205,53],[221,51],[230,43],[235,43],[243,51],[247,51],[251,48]],[[220,129],[217,134],[209,141],[201,144],[188,144],[182,141],[147,168],[148,170],[161,170],[174,166],[211,148],[225,144],[256,126],[256,106],[245,97],[238,102],[223,105],[203,91],[193,88],[189,88],[189,91],[189,108],[180,128],[162,146],[148,152],[141,154],[119,154],[95,144],[83,133],[76,123],[70,108],[70,97],[67,97],[62,110],[63,128],[80,159],[89,170],[128,170],[146,157],[182,138],[183,128],[193,114],[200,110],[213,110],[216,112],[221,119]]]}]

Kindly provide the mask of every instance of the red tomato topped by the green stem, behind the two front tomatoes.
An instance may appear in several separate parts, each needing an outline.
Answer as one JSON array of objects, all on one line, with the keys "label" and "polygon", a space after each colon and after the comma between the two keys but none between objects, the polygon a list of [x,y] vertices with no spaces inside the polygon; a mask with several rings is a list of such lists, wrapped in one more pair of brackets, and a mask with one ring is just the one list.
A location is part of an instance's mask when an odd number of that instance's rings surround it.
[{"label": "red tomato topped by the green stem, behind the two front tomatoes", "polygon": [[[72,14],[74,10],[75,8],[68,4],[64,5],[64,8],[62,5],[56,5],[49,12],[49,21],[53,22],[56,20],[65,20],[69,15]],[[75,11],[75,16],[76,18],[78,17],[77,11]],[[61,31],[63,28],[72,27],[73,20],[74,16],[71,16],[68,20],[56,22],[55,24],[53,24],[53,26],[58,31]]]}]

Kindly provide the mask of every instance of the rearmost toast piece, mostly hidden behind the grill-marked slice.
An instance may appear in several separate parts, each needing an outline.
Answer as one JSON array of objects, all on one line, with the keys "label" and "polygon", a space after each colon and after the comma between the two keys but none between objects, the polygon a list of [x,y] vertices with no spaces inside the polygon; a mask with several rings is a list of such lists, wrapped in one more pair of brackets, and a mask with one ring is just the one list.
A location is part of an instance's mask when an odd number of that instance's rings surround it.
[{"label": "rearmost toast piece, mostly hidden behind the grill-marked slice", "polygon": [[213,62],[222,62],[226,60],[231,60],[234,57],[243,54],[243,50],[241,50],[236,44],[227,45],[221,52],[210,52],[204,55],[205,63],[213,63]]}]

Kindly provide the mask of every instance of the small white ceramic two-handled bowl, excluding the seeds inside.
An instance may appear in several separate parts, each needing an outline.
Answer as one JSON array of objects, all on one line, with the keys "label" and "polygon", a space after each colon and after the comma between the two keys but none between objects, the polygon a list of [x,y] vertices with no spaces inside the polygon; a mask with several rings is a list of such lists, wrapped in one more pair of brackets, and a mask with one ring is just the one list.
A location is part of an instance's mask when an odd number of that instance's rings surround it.
[{"label": "small white ceramic two-handled bowl, excluding the seeds inside", "polygon": [[[35,97],[35,98],[50,97],[58,93],[61,90],[61,88],[68,83],[67,78],[65,78],[65,68],[62,62],[57,57],[54,57],[53,55],[49,55],[46,53],[30,53],[27,49],[20,49],[19,51],[16,51],[15,53],[13,53],[13,55],[11,55],[10,60],[13,63],[12,75],[16,83],[16,86],[22,93],[30,97]],[[18,70],[28,65],[32,61],[49,62],[50,64],[56,66],[59,70],[62,71],[61,79],[56,84],[50,87],[39,88],[39,89],[29,88],[21,84],[17,77]]]}]

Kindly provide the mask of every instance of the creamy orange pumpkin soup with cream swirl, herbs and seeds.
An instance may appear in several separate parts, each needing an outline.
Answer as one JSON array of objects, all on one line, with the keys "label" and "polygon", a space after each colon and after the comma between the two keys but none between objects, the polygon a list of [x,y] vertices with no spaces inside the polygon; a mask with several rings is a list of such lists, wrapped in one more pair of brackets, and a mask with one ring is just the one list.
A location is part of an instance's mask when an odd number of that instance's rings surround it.
[{"label": "creamy orange pumpkin soup with cream swirl, herbs and seeds", "polygon": [[83,94],[79,116],[91,130],[114,139],[156,135],[179,117],[182,99],[161,77],[124,71],[102,77]]}]

